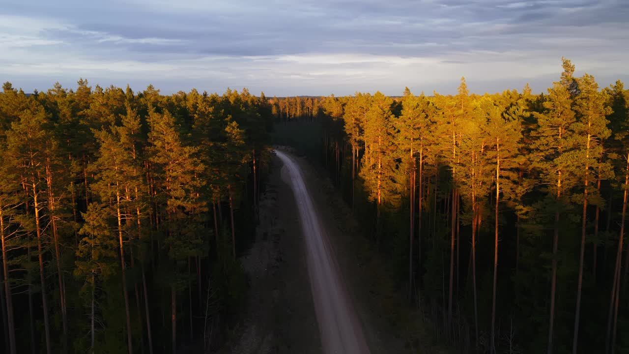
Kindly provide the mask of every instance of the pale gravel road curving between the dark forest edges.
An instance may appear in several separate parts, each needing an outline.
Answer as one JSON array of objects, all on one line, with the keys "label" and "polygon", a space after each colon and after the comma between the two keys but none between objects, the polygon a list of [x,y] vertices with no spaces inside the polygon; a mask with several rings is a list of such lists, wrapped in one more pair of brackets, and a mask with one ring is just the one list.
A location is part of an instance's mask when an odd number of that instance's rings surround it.
[{"label": "pale gravel road curving between the dark forest edges", "polygon": [[369,354],[362,326],[340,276],[325,227],[306,188],[301,168],[288,154],[275,152],[284,163],[282,178],[291,186],[299,208],[301,229],[306,240],[310,288],[323,350],[326,354]]}]

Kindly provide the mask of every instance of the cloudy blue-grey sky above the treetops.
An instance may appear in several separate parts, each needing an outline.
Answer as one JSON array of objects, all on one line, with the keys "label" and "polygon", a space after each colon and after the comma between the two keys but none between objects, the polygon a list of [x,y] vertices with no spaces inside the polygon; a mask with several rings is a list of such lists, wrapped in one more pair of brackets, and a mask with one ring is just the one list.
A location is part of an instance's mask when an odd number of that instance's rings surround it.
[{"label": "cloudy blue-grey sky above the treetops", "polygon": [[627,0],[0,0],[0,81],[267,96],[629,82]]}]

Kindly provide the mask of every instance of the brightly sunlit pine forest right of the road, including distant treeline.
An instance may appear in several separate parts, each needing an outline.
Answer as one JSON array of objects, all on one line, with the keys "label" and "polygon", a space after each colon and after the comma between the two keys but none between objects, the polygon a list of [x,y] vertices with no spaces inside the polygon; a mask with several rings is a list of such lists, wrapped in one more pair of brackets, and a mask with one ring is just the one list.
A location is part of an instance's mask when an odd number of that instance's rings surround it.
[{"label": "brightly sunlit pine forest right of the road, including distant treeline", "polygon": [[629,350],[629,90],[562,67],[542,94],[272,102],[456,351]]}]

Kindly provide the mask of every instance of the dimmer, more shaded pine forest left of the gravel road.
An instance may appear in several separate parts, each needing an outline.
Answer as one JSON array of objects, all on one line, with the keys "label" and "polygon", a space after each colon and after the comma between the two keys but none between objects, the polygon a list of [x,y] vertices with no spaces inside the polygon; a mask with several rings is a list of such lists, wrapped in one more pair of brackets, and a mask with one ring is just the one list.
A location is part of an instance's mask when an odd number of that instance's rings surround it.
[{"label": "dimmer, more shaded pine forest left of the gravel road", "polygon": [[269,161],[269,100],[148,86],[0,93],[4,353],[216,349]]}]

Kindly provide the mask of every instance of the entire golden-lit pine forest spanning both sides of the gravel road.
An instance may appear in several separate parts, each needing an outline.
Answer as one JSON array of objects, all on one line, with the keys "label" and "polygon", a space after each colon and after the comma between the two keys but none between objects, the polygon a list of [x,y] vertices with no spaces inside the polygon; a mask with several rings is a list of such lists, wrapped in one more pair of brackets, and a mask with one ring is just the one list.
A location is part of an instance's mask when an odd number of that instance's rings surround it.
[{"label": "entire golden-lit pine forest spanning both sides of the gravel road", "polygon": [[[325,171],[462,353],[629,351],[629,90],[0,93],[6,353],[220,348],[272,144]],[[558,70],[559,72],[559,70]]]}]

